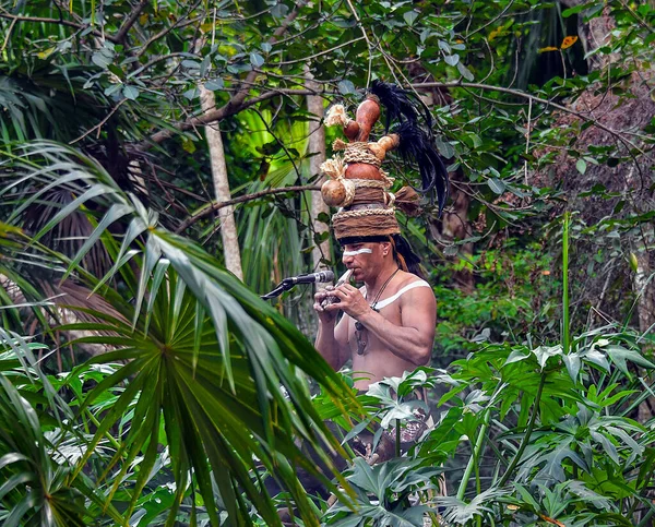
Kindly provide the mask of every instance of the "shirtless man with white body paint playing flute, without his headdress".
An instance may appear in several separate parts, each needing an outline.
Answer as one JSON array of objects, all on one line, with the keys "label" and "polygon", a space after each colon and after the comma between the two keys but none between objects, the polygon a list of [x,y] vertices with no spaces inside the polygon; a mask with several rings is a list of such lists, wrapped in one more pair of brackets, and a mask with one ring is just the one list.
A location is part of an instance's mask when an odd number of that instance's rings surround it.
[{"label": "shirtless man with white body paint playing flute, without his headdress", "polygon": [[[343,262],[364,287],[344,284],[314,296],[315,348],[335,370],[353,359],[355,387],[361,391],[426,366],[432,352],[434,295],[429,284],[400,268],[394,247],[391,240],[345,244]],[[327,296],[338,303],[322,308]],[[344,316],[336,323],[340,311]]]}]

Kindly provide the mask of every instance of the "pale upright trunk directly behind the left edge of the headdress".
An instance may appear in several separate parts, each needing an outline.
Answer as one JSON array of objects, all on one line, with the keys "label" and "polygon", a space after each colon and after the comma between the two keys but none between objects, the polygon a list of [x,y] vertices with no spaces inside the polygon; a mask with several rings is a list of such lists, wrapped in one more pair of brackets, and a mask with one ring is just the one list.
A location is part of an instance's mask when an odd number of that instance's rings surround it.
[{"label": "pale upright trunk directly behind the left edge of the headdress", "polygon": [[[306,68],[306,83],[305,85],[309,89],[320,89],[320,84],[313,81],[312,74],[309,72],[309,68]],[[323,118],[323,98],[318,95],[307,96],[307,110],[317,117],[315,121],[309,121],[309,145],[308,154],[314,154],[309,158],[309,167],[311,177],[314,177],[321,171],[321,164],[325,161],[325,128],[321,120]],[[317,184],[322,184],[324,176],[321,176],[317,180]],[[319,221],[319,214],[330,214],[330,207],[325,205],[320,192],[311,193],[311,223],[313,225],[313,231],[317,233],[326,232],[329,227],[323,221]],[[326,265],[321,260],[329,260],[330,257],[330,238],[325,239],[321,243],[317,243],[311,252],[313,268],[324,268]],[[324,284],[320,285],[324,287]]]}]

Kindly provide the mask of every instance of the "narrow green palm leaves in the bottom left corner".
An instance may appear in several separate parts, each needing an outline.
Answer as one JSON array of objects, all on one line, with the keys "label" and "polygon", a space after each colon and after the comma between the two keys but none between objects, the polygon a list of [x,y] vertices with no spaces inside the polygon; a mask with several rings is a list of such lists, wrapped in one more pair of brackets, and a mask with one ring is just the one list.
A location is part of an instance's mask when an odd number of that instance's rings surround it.
[{"label": "narrow green palm leaves in the bottom left corner", "polygon": [[[72,477],[72,465],[61,463],[63,448],[49,430],[55,423],[70,433],[72,412],[35,361],[33,351],[43,345],[2,331],[0,346],[2,525],[87,525],[104,500],[86,478]],[[105,514],[120,518],[111,505]]]}]

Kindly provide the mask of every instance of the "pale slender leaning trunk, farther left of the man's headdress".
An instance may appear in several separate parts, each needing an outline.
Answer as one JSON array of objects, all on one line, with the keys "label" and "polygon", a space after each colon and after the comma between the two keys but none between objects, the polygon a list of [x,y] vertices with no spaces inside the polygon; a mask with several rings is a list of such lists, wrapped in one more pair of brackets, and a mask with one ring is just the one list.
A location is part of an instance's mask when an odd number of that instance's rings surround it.
[{"label": "pale slender leaning trunk, farther left of the man's headdress", "polygon": [[[204,112],[216,107],[214,92],[206,89],[202,84],[200,87],[200,104]],[[205,127],[210,159],[212,163],[212,180],[214,181],[214,193],[216,201],[223,202],[231,197],[227,180],[227,166],[225,165],[225,151],[218,122]],[[241,253],[239,250],[239,237],[235,223],[234,207],[227,206],[218,211],[221,220],[221,238],[223,239],[223,253],[225,266],[240,280],[243,279],[241,270]]]}]

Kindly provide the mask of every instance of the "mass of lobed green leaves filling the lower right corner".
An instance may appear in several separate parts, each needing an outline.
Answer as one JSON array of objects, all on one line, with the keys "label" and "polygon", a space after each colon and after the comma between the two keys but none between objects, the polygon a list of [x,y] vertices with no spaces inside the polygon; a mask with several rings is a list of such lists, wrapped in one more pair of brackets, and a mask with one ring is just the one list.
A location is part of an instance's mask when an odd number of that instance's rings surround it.
[{"label": "mass of lobed green leaves filling the lower right corner", "polygon": [[[374,467],[357,460],[347,479],[360,515],[336,507],[329,523],[420,526],[431,510],[448,525],[635,525],[626,518],[653,508],[655,463],[653,420],[629,417],[653,390],[629,363],[655,369],[636,340],[605,327],[573,338],[568,355],[560,345],[478,345],[448,371],[420,369],[380,383],[398,394],[441,390],[436,424],[407,457]],[[379,419],[404,426],[412,412],[398,409],[407,403],[388,400],[380,385],[367,394],[379,400]],[[462,454],[466,466],[455,464]],[[490,465],[490,478],[480,476],[481,465]],[[430,492],[442,472],[451,475],[449,487],[458,486],[456,496]]]}]

